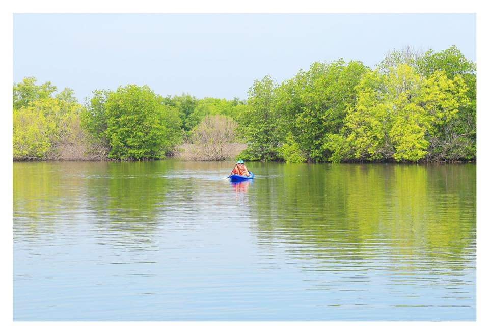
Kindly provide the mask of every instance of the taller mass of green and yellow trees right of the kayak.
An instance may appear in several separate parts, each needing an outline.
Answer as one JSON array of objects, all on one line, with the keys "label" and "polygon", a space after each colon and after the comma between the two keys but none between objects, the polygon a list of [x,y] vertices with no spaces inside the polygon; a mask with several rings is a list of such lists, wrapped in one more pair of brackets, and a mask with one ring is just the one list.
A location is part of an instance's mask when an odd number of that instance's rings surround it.
[{"label": "taller mass of green and yellow trees right of the kayak", "polygon": [[241,158],[289,162],[476,159],[476,65],[455,47],[394,51],[372,70],[314,63],[266,76],[239,115]]}]

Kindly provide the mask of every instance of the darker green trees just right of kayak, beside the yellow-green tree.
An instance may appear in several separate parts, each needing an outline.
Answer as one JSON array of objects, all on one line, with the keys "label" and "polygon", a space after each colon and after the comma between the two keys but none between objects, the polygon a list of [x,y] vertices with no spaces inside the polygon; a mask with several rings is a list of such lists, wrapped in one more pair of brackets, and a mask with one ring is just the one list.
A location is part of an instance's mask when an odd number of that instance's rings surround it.
[{"label": "darker green trees just right of kayak, beside the yellow-green tree", "polygon": [[289,161],[284,153],[294,148],[294,161],[298,156],[326,160],[331,155],[324,146],[327,134],[343,126],[346,107],[356,100],[354,87],[366,71],[360,62],[338,60],[314,63],[280,86],[270,77],[255,81],[247,112],[238,118],[249,145],[242,157]]}]

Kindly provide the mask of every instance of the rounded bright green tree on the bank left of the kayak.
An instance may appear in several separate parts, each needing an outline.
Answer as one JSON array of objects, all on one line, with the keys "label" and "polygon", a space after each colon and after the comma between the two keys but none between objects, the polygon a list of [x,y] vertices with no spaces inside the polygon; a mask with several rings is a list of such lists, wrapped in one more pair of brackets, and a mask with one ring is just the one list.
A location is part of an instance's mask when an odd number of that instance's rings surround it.
[{"label": "rounded bright green tree on the bank left of the kayak", "polygon": [[180,140],[178,110],[148,86],[127,85],[110,93],[105,113],[110,158],[161,158]]}]

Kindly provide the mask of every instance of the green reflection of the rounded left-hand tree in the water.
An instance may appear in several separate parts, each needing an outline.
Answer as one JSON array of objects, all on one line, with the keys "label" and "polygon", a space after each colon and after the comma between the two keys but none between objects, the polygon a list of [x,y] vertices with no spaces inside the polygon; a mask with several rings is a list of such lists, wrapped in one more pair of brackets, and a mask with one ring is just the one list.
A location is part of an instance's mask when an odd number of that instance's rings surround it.
[{"label": "green reflection of the rounded left-hand tree in the water", "polygon": [[159,210],[167,196],[164,164],[110,162],[87,175],[90,220],[97,242],[124,248],[154,244]]}]

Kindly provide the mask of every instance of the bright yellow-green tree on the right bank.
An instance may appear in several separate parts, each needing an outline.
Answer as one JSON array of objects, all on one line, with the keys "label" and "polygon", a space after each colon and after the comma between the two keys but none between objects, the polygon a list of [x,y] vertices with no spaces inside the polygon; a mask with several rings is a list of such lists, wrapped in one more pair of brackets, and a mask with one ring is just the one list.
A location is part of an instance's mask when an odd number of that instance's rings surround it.
[{"label": "bright yellow-green tree on the right bank", "polygon": [[442,71],[428,78],[408,64],[365,75],[356,87],[358,101],[348,109],[341,135],[329,136],[333,161],[420,161],[433,138],[467,101],[460,77]]}]

